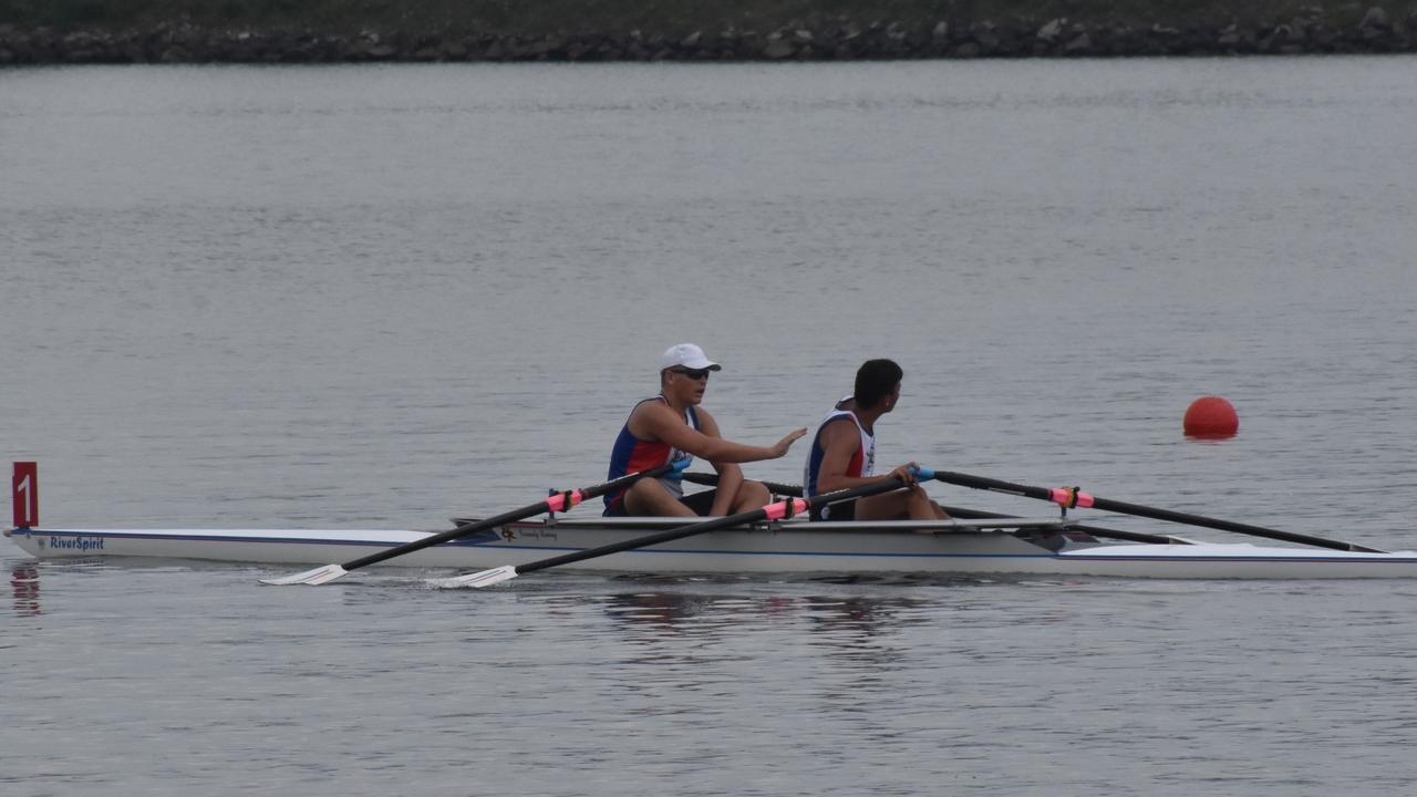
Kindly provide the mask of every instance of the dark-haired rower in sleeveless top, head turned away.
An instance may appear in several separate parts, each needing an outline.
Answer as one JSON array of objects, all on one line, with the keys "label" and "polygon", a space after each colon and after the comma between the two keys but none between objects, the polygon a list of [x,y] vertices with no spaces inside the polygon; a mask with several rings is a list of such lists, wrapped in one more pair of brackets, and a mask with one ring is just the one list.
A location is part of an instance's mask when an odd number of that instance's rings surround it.
[{"label": "dark-haired rower in sleeveless top, head turned away", "polygon": [[901,479],[904,489],[871,495],[852,502],[822,506],[813,520],[944,520],[945,511],[930,499],[907,462],[886,475],[876,475],[876,421],[896,408],[905,373],[894,360],[866,360],[856,372],[852,396],[836,403],[822,420],[806,454],[802,486],[808,498]]}]

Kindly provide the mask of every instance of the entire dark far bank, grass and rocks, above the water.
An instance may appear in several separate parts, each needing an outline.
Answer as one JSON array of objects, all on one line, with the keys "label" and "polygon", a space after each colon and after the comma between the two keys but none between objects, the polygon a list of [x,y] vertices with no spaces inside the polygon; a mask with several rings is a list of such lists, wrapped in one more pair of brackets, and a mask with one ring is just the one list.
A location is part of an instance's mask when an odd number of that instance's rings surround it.
[{"label": "entire dark far bank, grass and rocks, above the water", "polygon": [[1056,9],[1049,3],[986,9],[986,0],[962,0],[897,3],[890,7],[898,18],[884,11],[867,18],[850,11],[822,13],[826,6],[849,9],[822,1],[786,3],[778,14],[758,4],[727,18],[724,9],[716,7],[720,17],[667,13],[656,20],[614,3],[598,7],[595,16],[584,9],[558,16],[554,3],[523,0],[531,4],[517,10],[497,4],[503,11],[499,17],[489,11],[487,0],[441,4],[445,1],[408,0],[395,17],[368,14],[370,7],[383,6],[364,6],[364,16],[341,17],[337,0],[302,6],[302,16],[247,14],[238,0],[220,7],[196,0],[139,1],[122,6],[126,16],[102,0],[51,0],[47,14],[30,4],[21,13],[20,0],[0,0],[0,65],[1417,52],[1417,4],[1403,9],[1401,16],[1383,6],[1288,9],[1282,3],[1250,4],[1227,16],[1214,6],[1148,13],[1119,3],[1093,11],[1070,3],[1071,16],[1050,16]]}]

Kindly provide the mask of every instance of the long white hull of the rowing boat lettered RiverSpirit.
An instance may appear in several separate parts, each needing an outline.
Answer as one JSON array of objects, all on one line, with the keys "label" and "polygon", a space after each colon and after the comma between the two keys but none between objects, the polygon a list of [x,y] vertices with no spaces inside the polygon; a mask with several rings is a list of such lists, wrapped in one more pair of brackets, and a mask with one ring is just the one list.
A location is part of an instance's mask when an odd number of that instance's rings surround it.
[{"label": "long white hull of the rowing boat lettered RiverSpirit", "polygon": [[[1053,535],[1044,546],[1005,530],[918,533],[808,523],[696,535],[567,564],[639,573],[918,573],[1148,579],[1411,579],[1417,553],[1254,545],[1098,545]],[[307,529],[13,529],[40,559],[153,557],[264,564],[360,559],[432,532]],[[383,566],[473,570],[521,566],[652,533],[646,526],[512,523],[390,559]],[[1061,543],[1058,550],[1050,550]]]}]

